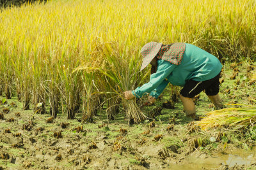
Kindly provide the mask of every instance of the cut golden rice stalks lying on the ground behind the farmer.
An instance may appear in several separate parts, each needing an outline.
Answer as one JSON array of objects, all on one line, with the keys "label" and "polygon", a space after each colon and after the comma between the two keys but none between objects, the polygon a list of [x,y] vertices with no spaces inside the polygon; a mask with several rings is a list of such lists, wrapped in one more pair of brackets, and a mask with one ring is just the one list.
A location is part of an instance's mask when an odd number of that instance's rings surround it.
[{"label": "cut golden rice stalks lying on the ground behind the farmer", "polygon": [[244,104],[232,105],[244,107],[224,108],[211,111],[206,113],[207,117],[197,122],[197,125],[200,125],[202,129],[209,129],[212,127],[234,127],[239,129],[256,123],[255,106],[246,106]]}]

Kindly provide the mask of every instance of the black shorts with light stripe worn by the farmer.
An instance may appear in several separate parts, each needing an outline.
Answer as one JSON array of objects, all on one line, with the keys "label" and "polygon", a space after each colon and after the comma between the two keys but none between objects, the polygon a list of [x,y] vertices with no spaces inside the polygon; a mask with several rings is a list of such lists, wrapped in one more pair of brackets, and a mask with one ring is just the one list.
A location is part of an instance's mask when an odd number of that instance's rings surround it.
[{"label": "black shorts with light stripe worn by the farmer", "polygon": [[220,91],[220,73],[210,80],[195,81],[189,80],[186,82],[183,89],[180,90],[180,95],[193,98],[205,90],[207,96],[214,96]]}]

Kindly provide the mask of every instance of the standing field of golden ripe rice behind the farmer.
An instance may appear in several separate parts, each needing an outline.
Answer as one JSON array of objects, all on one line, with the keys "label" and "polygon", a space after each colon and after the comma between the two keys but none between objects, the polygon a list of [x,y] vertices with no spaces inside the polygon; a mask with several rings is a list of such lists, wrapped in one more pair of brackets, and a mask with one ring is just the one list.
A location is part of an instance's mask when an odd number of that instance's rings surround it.
[{"label": "standing field of golden ripe rice behind the farmer", "polygon": [[24,110],[92,121],[124,109],[145,119],[122,92],[149,78],[140,48],[150,41],[186,42],[221,62],[255,60],[253,0],[48,1],[0,11],[0,93]]}]

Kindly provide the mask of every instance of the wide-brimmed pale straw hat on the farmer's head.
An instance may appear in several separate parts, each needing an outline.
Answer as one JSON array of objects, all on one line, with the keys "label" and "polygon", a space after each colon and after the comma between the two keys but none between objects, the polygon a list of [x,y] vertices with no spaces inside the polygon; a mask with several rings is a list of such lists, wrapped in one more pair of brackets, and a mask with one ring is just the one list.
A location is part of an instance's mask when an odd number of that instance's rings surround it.
[{"label": "wide-brimmed pale straw hat on the farmer's head", "polygon": [[156,57],[157,53],[161,49],[162,43],[150,42],[141,48],[141,55],[143,56],[143,62],[141,64],[140,71],[150,64],[150,62]]}]

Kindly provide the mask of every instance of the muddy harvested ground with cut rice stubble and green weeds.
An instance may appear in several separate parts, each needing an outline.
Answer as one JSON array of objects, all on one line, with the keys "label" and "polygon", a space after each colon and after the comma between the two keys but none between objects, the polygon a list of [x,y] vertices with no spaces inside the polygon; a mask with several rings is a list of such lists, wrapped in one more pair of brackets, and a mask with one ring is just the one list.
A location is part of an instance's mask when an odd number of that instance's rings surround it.
[{"label": "muddy harvested ground with cut rice stubble and green weeds", "polygon": [[[256,104],[252,81],[256,63],[254,70],[248,66],[248,62],[225,65],[220,89],[223,103]],[[238,73],[231,80],[234,68]],[[154,106],[144,107],[144,113],[168,99],[170,89]],[[49,110],[40,115],[22,110],[15,97],[7,102],[0,104],[4,116],[0,120],[0,169],[256,169],[253,127],[195,129],[180,101],[174,110],[163,108],[154,122],[145,120],[130,127],[124,113],[115,115],[109,124],[105,110],[90,124],[81,122],[81,113],[74,120],[60,113],[51,122]],[[214,110],[204,92],[196,110],[199,116]]]}]

